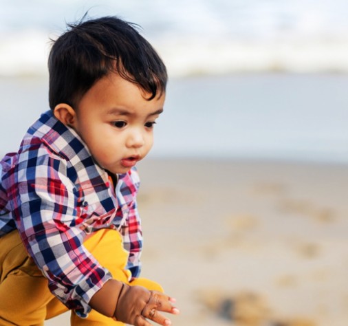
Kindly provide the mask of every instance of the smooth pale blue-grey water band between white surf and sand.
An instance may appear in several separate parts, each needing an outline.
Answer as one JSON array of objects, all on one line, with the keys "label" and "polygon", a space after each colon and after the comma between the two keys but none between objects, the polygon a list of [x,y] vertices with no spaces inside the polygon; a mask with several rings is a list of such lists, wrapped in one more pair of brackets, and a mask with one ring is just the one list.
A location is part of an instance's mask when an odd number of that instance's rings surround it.
[{"label": "smooth pale blue-grey water band between white surf and sand", "polygon": [[[169,80],[152,157],[348,163],[348,75]],[[0,78],[0,153],[47,110],[45,78]]]}]

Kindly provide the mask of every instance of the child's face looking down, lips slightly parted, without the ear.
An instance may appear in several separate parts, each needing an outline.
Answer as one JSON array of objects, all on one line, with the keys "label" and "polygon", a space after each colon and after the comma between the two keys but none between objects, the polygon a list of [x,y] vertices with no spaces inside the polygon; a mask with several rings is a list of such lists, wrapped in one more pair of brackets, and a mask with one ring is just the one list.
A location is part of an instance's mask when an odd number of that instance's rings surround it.
[{"label": "child's face looking down, lips slightly parted, without the ear", "polygon": [[126,173],[149,153],[165,98],[146,100],[149,96],[138,85],[109,74],[80,100],[72,127],[103,169]]}]

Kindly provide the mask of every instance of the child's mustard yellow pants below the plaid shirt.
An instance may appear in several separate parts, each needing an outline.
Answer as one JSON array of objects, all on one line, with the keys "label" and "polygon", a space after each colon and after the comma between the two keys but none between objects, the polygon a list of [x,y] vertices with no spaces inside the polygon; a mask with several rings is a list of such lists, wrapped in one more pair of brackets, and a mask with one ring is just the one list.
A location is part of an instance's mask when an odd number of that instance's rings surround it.
[{"label": "child's mustard yellow pants below the plaid shirt", "polygon": [[[135,279],[129,283],[127,252],[116,230],[103,229],[84,243],[99,263],[107,268],[113,279],[129,285],[142,285],[149,290],[163,291],[148,279]],[[67,312],[67,307],[54,297],[48,283],[34,261],[25,252],[19,233],[10,232],[0,238],[0,325],[42,326],[44,320]],[[121,326],[123,323],[99,314],[95,310],[87,318],[71,314],[73,326]]]}]

